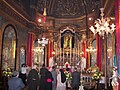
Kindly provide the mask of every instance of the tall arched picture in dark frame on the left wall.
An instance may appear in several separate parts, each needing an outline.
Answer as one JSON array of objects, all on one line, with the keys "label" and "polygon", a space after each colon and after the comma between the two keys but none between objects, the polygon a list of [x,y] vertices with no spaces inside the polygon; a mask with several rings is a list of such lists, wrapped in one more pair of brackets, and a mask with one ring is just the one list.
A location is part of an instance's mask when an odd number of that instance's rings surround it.
[{"label": "tall arched picture in dark frame on the left wall", "polygon": [[6,26],[2,40],[2,69],[15,69],[16,32],[12,25]]}]

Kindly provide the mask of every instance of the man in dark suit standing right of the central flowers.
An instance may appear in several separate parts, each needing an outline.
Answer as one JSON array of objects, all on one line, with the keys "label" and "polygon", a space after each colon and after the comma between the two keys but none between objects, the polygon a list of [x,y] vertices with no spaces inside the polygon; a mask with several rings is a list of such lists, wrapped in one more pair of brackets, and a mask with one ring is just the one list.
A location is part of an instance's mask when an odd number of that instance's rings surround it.
[{"label": "man in dark suit standing right of the central flowers", "polygon": [[75,68],[75,71],[72,72],[72,88],[73,90],[79,90],[79,84],[80,84],[80,72],[77,71],[77,68]]}]

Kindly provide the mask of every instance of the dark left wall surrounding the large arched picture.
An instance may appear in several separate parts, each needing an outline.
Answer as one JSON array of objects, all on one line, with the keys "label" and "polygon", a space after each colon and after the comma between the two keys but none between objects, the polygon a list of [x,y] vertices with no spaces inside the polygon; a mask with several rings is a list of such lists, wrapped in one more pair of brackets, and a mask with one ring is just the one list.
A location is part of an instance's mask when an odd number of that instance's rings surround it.
[{"label": "dark left wall surrounding the large arched picture", "polygon": [[14,20],[14,17],[6,18],[6,15],[0,16],[0,66],[1,66],[1,54],[2,54],[2,36],[5,26],[11,24],[15,27],[17,33],[17,53],[16,53],[16,69],[19,69],[20,62],[20,48],[25,47],[27,50],[28,28]]}]

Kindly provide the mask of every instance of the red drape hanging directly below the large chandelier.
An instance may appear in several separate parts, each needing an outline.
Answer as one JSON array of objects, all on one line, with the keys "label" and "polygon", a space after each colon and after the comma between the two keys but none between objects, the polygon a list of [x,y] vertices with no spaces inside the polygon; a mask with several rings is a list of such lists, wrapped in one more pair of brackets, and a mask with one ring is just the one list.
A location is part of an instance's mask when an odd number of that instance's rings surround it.
[{"label": "red drape hanging directly below the large chandelier", "polygon": [[97,48],[97,59],[96,64],[99,67],[101,71],[101,65],[102,65],[102,39],[99,37],[99,35],[96,35],[96,48]]}]

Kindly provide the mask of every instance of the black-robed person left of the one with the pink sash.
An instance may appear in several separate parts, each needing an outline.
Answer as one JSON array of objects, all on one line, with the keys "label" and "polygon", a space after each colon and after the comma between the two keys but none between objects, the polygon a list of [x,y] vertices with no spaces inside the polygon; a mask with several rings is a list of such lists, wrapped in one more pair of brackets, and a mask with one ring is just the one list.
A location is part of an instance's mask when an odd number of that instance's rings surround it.
[{"label": "black-robed person left of the one with the pink sash", "polygon": [[39,75],[37,71],[37,65],[34,65],[33,68],[29,71],[27,77],[28,90],[37,90],[39,85]]}]

